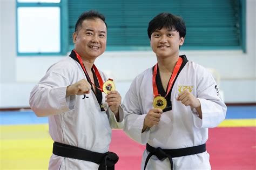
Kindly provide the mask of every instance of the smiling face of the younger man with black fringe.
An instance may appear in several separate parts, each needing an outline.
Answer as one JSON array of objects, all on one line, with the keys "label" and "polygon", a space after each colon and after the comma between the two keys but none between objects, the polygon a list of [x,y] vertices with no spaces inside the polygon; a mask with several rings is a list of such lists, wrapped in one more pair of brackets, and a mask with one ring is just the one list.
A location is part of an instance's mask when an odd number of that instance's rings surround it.
[{"label": "smiling face of the younger man with black fringe", "polygon": [[179,55],[179,46],[183,45],[184,37],[179,36],[176,30],[162,28],[151,34],[150,45],[157,57],[176,57]]}]

